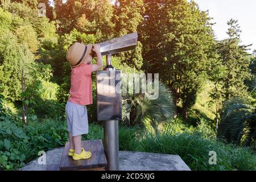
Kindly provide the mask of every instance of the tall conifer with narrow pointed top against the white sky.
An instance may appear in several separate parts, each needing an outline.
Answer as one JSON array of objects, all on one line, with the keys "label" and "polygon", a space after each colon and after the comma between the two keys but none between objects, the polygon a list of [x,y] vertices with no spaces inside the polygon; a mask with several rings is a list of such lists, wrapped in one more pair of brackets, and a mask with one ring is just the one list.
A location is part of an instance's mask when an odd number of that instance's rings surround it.
[{"label": "tall conifer with narrow pointed top against the white sky", "polygon": [[212,98],[211,102],[216,104],[216,129],[218,129],[222,102],[234,96],[248,96],[245,82],[251,79],[249,69],[251,56],[247,53],[247,47],[250,45],[240,46],[241,30],[237,20],[229,20],[228,26],[229,38],[217,43],[218,56],[216,61],[211,64],[211,71],[208,74],[209,80],[214,83],[210,97]]}]

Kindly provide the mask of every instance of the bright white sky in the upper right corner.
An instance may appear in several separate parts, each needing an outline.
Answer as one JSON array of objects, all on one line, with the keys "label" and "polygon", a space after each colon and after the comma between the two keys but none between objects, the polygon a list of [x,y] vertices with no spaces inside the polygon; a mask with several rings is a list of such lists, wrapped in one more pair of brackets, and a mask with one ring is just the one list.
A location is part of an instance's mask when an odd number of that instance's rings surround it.
[{"label": "bright white sky in the upper right corner", "polygon": [[226,24],[231,18],[237,19],[242,33],[242,44],[253,44],[251,51],[256,49],[256,1],[255,0],[194,0],[201,10],[209,10],[212,22],[216,23],[213,30],[218,40],[227,38]]}]

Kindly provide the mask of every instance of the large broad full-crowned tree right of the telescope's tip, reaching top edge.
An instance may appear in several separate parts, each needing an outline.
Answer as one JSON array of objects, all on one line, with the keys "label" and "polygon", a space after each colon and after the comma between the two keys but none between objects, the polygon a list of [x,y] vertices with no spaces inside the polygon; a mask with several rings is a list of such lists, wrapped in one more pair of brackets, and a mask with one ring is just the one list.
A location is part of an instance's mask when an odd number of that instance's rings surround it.
[{"label": "large broad full-crowned tree right of the telescope's tip, reaching top edge", "polygon": [[193,1],[144,1],[143,68],[161,73],[172,89],[181,114],[196,101],[209,63],[215,59],[212,24],[207,12]]}]

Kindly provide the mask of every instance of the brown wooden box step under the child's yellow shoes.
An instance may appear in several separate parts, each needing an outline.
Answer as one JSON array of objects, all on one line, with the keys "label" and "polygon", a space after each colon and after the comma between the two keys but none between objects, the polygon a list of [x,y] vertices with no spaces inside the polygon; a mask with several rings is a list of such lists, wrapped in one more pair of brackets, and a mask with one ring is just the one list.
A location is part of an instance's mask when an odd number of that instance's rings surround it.
[{"label": "brown wooden box step under the child's yellow shoes", "polygon": [[73,160],[68,156],[69,142],[66,142],[60,163],[61,171],[75,171],[80,169],[106,168],[106,156],[102,140],[85,140],[81,143],[86,151],[92,152],[90,159]]}]

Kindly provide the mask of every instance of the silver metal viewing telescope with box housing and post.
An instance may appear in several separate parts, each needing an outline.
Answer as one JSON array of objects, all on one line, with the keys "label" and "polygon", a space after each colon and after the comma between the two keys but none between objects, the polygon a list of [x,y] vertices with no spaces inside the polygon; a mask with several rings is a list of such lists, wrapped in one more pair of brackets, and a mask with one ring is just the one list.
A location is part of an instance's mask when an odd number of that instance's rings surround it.
[{"label": "silver metal viewing telescope with box housing and post", "polygon": [[104,121],[104,149],[110,171],[119,170],[118,121],[122,119],[121,71],[112,66],[112,55],[134,49],[137,40],[135,32],[100,43],[106,67],[96,72],[97,118]]}]

